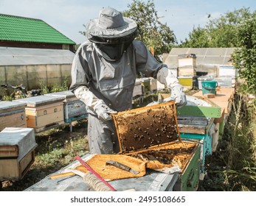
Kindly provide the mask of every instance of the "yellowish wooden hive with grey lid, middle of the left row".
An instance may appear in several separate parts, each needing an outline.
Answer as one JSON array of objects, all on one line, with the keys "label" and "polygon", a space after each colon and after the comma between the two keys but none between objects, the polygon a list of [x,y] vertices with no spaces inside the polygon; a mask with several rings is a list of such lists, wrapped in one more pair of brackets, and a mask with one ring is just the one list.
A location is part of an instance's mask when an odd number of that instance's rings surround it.
[{"label": "yellowish wooden hive with grey lid, middle of the left row", "polygon": [[27,127],[34,128],[35,132],[42,132],[64,124],[63,100],[63,96],[42,95],[15,101],[27,104]]}]

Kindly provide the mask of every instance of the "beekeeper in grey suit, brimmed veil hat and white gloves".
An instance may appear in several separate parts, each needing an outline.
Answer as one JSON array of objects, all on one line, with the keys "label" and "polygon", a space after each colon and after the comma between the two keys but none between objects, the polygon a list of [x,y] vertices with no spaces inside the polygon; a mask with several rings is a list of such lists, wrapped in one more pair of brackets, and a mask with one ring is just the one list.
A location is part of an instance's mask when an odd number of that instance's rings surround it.
[{"label": "beekeeper in grey suit, brimmed veil hat and white gloves", "polygon": [[88,41],[75,54],[70,90],[89,111],[91,154],[120,152],[111,113],[129,110],[136,74],[153,77],[171,90],[177,106],[186,104],[178,79],[159,63],[136,36],[136,22],[107,7],[86,25]]}]

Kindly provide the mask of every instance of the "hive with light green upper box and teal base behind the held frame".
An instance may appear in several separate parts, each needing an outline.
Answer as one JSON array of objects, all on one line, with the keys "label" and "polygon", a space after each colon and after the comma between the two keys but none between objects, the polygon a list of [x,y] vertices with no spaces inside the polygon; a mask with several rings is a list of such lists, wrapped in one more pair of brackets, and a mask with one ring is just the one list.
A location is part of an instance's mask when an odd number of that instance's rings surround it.
[{"label": "hive with light green upper box and teal base behind the held frame", "polygon": [[221,117],[221,107],[204,97],[187,96],[187,105],[177,110],[181,138],[201,143],[201,180],[205,174],[206,157],[212,154],[216,134],[215,118]]}]

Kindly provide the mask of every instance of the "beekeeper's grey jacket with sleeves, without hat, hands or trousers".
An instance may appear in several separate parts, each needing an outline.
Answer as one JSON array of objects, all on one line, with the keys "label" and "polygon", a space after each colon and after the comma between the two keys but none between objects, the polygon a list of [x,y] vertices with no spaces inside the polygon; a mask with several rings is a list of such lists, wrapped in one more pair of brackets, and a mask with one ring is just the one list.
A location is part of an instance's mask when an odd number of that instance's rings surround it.
[{"label": "beekeeper's grey jacket with sleeves, without hat, hands or trousers", "polygon": [[153,77],[168,88],[179,86],[179,81],[159,63],[139,40],[129,46],[118,61],[105,60],[91,42],[83,43],[72,64],[70,90],[95,114],[94,106],[105,102],[115,111],[131,109],[136,74]]}]

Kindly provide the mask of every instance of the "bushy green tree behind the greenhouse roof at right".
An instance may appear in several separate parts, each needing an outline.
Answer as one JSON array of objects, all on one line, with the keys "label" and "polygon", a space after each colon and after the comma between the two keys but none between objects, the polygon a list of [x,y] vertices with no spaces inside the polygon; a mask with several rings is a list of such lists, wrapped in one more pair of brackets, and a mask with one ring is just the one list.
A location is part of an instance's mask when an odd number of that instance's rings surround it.
[{"label": "bushy green tree behind the greenhouse roof at right", "polygon": [[221,15],[209,21],[205,28],[198,26],[181,42],[181,47],[238,47],[238,26],[252,16],[249,8]]}]

